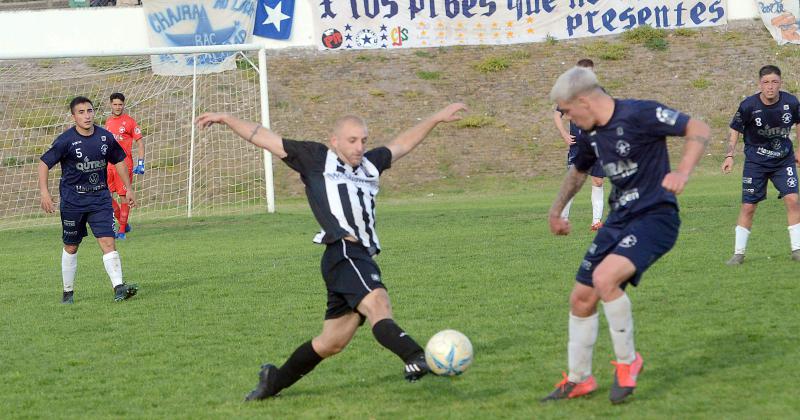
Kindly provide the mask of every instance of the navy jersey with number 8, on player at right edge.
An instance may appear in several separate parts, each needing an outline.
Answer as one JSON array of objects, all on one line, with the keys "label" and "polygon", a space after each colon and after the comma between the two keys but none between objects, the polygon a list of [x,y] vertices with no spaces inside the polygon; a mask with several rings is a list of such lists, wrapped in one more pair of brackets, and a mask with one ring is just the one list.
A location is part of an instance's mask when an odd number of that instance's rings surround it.
[{"label": "navy jersey with number 8, on player at right edge", "polygon": [[739,105],[730,127],[744,134],[745,159],[768,168],[794,161],[789,133],[800,123],[797,97],[780,92],[778,102],[765,105],[759,94],[747,97]]}]

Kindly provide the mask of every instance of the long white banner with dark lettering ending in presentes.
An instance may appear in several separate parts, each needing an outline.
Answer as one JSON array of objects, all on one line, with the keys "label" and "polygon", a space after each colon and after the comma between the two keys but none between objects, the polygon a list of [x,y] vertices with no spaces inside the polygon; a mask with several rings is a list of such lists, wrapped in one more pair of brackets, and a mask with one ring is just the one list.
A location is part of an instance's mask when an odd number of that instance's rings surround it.
[{"label": "long white banner with dark lettering ending in presentes", "polygon": [[314,25],[320,49],[373,49],[695,28],[727,16],[726,0],[319,0]]}]

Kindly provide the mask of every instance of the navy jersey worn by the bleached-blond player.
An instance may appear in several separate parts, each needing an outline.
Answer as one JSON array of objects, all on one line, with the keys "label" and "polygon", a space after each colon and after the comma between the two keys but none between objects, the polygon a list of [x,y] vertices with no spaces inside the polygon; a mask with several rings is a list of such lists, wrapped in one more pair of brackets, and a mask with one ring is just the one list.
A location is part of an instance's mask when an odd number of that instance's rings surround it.
[{"label": "navy jersey worn by the bleached-blond player", "polygon": [[613,185],[606,223],[656,207],[678,207],[675,194],[661,186],[670,172],[666,137],[684,135],[688,122],[688,115],[655,101],[615,99],[608,123],[578,136],[575,168],[588,172],[600,160]]}]

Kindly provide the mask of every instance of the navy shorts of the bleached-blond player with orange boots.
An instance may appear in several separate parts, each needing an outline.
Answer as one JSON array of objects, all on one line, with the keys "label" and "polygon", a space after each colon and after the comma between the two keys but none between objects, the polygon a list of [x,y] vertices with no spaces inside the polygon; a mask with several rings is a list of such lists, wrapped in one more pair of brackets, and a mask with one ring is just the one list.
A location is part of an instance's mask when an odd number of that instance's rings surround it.
[{"label": "navy shorts of the bleached-blond player with orange boots", "polygon": [[593,287],[592,273],[609,254],[621,255],[633,262],[636,273],[628,283],[636,286],[642,274],[661,258],[678,240],[681,219],[672,206],[661,207],[636,216],[625,224],[606,223],[597,232],[594,242],[583,257],[575,280]]}]

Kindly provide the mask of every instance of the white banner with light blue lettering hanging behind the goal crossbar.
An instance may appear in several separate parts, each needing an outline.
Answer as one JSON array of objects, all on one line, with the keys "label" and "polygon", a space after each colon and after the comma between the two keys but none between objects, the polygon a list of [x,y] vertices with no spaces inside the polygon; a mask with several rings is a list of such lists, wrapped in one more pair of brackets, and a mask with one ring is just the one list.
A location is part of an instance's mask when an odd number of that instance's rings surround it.
[{"label": "white banner with light blue lettering hanging behind the goal crossbar", "polygon": [[[145,0],[151,47],[245,44],[250,41],[256,0]],[[236,68],[235,52],[152,56],[153,72],[187,76]]]}]

